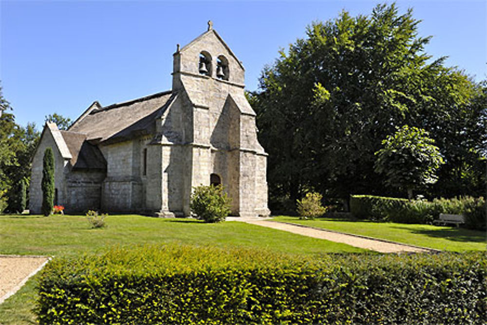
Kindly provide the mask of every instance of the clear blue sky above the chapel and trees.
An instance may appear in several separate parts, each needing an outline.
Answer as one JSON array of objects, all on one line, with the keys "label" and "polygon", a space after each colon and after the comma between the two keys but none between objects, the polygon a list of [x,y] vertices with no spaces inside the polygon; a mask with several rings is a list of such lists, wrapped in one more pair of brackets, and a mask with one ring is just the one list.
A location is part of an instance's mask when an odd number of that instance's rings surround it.
[{"label": "clear blue sky above the chapel and trees", "polygon": [[[94,100],[102,105],[171,88],[172,54],[214,29],[244,63],[246,88],[256,90],[265,64],[304,37],[313,20],[342,9],[368,15],[380,1],[5,1],[0,0],[0,79],[21,125],[54,112],[75,119]],[[389,1],[389,3],[391,3]],[[433,36],[427,53],[476,81],[486,75],[485,0],[397,1]]]}]

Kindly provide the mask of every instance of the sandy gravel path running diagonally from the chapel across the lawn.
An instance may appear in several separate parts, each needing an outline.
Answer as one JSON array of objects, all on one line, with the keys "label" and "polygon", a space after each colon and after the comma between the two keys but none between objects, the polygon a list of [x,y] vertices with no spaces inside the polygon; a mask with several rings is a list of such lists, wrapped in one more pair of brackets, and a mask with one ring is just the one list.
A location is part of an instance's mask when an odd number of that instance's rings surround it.
[{"label": "sandy gravel path running diagonally from the chapel across the lawn", "polygon": [[373,238],[367,238],[363,236],[356,236],[356,235],[349,235],[344,234],[336,231],[325,230],[325,229],[316,229],[296,224],[288,224],[282,223],[277,221],[271,221],[269,219],[262,220],[262,218],[242,218],[238,220],[237,218],[234,219],[235,221],[243,221],[248,224],[268,227],[273,229],[279,229],[284,231],[289,231],[293,233],[297,233],[303,236],[318,238],[318,239],[326,239],[332,242],[343,243],[350,246],[362,248],[362,249],[371,249],[381,253],[400,253],[400,252],[432,252],[436,251],[434,249],[425,249],[400,243],[394,243],[385,240],[377,240]]}]

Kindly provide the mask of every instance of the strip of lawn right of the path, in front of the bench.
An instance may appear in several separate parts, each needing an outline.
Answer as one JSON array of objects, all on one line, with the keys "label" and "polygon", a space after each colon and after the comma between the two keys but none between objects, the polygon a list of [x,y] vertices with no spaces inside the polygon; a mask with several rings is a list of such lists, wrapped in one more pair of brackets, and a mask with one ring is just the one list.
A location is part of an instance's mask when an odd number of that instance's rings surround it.
[{"label": "strip of lawn right of the path, in front of the bench", "polygon": [[448,251],[486,250],[486,232],[463,228],[431,225],[407,225],[370,221],[318,218],[300,220],[297,217],[278,216],[273,220],[304,226],[354,233],[432,249]]}]

